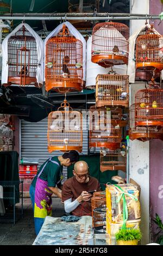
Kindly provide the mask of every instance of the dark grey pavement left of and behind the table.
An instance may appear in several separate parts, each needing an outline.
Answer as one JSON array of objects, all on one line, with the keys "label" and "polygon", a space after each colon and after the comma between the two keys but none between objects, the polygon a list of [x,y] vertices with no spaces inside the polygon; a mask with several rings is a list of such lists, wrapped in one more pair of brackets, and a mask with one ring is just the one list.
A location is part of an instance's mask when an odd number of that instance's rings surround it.
[{"label": "dark grey pavement left of and behind the table", "polygon": [[[64,205],[59,198],[53,198],[53,217],[64,215]],[[21,198],[20,198],[21,201]],[[3,222],[0,217],[0,245],[32,245],[36,235],[34,230],[33,209],[30,198],[23,198],[23,218],[15,225]],[[16,214],[21,212],[21,203],[16,204]],[[3,217],[4,218],[4,217]]]}]

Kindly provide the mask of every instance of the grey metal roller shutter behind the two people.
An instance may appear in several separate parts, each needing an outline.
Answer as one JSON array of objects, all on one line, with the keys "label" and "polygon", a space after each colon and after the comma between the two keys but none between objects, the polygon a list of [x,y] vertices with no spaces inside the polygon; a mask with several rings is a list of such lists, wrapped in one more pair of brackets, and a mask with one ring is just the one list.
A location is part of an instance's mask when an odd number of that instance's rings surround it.
[{"label": "grey metal roller shutter behind the two people", "polygon": [[[83,120],[85,122],[86,120]],[[47,150],[47,125],[48,118],[37,123],[30,123],[21,120],[21,158],[32,158],[39,160],[41,164],[51,156],[60,156],[63,153],[54,151],[52,154]],[[82,155],[87,155],[87,130],[83,131],[83,151]],[[64,168],[64,180],[67,178],[66,168]]]}]

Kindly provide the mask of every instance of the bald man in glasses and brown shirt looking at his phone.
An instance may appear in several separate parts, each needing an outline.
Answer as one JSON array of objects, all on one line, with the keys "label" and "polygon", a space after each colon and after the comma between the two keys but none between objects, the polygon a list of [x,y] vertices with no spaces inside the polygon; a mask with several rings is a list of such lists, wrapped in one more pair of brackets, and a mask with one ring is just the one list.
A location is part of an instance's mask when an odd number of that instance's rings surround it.
[{"label": "bald man in glasses and brown shirt looking at his phone", "polygon": [[73,175],[62,187],[65,211],[75,216],[91,215],[92,194],[89,191],[100,191],[100,184],[89,175],[89,167],[85,161],[74,164]]}]

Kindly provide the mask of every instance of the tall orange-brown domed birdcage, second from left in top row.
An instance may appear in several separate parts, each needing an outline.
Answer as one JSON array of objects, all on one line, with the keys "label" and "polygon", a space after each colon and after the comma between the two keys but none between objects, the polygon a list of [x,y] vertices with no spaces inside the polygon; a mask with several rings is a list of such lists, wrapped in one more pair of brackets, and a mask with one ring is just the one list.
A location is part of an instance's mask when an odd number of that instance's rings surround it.
[{"label": "tall orange-brown domed birdcage, second from left in top row", "polygon": [[83,44],[65,25],[46,43],[45,88],[60,93],[83,88]]}]

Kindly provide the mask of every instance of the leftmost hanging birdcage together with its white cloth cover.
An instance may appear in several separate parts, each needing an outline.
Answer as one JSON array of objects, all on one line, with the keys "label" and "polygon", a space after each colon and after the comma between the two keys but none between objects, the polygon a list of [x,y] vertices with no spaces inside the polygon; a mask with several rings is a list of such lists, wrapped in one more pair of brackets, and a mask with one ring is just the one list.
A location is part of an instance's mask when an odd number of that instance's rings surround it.
[{"label": "leftmost hanging birdcage together with its white cloth cover", "polygon": [[2,42],[2,84],[43,84],[43,41],[26,23],[18,25]]}]

